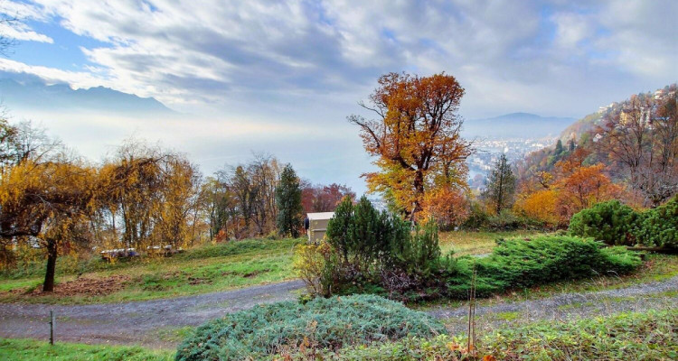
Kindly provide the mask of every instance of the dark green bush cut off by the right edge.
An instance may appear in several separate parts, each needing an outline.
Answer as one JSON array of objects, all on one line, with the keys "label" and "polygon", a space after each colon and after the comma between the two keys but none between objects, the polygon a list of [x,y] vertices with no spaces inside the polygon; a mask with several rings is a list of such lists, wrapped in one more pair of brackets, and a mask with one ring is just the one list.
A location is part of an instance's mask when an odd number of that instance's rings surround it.
[{"label": "dark green bush cut off by the right edge", "polygon": [[639,216],[636,237],[643,245],[678,247],[678,196]]}]

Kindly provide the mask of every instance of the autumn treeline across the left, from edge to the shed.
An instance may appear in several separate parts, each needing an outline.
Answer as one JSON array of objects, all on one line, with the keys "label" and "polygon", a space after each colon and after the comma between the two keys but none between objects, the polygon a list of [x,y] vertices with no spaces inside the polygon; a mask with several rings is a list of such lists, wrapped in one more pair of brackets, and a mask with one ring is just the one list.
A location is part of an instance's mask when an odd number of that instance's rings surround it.
[{"label": "autumn treeline across the left, from edge to the shed", "polygon": [[353,192],[312,186],[273,156],[203,177],[186,155],[129,141],[88,162],[30,123],[0,120],[0,265],[44,251],[44,291],[59,255],[178,249],[254,236],[299,236],[304,208]]}]

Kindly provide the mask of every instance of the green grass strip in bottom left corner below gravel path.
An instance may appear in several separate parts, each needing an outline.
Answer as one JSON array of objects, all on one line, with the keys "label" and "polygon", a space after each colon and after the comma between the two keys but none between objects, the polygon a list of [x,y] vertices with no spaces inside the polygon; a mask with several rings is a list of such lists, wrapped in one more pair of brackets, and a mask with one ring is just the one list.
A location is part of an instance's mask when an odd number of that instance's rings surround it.
[{"label": "green grass strip in bottom left corner below gravel path", "polygon": [[0,338],[0,359],[24,361],[170,361],[174,351],[142,347],[57,343],[24,338]]}]

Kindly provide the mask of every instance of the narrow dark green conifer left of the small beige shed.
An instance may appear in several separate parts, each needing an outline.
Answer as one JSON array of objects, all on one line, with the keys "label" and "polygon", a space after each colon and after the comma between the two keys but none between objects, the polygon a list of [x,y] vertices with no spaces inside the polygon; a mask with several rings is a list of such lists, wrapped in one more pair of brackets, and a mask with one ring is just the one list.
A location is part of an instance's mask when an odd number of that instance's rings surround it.
[{"label": "narrow dark green conifer left of the small beige shed", "polygon": [[297,238],[303,220],[301,186],[297,173],[289,164],[283,169],[280,182],[276,187],[276,205],[278,206],[278,218],[276,219],[278,233],[282,236]]}]

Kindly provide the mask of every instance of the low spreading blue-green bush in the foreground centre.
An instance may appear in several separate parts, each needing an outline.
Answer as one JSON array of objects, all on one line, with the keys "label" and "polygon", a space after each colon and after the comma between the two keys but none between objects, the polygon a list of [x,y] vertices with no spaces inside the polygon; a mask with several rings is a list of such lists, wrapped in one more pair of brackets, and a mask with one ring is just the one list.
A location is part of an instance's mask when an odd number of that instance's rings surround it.
[{"label": "low spreading blue-green bush in the foreground centre", "polygon": [[178,347],[176,360],[260,359],[299,347],[336,350],[444,332],[427,314],[373,295],[278,302],[202,325]]}]

